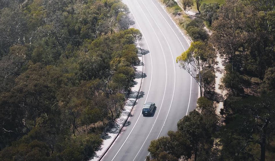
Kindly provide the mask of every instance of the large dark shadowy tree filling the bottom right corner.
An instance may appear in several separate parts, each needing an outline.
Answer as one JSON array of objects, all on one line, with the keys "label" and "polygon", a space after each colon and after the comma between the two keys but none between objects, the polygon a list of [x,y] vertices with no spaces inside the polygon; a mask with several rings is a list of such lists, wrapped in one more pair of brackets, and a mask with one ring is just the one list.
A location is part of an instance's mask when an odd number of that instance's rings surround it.
[{"label": "large dark shadowy tree filling the bottom right corner", "polygon": [[258,158],[264,161],[268,139],[275,133],[273,109],[273,93],[245,99],[229,97],[221,113],[225,125],[219,137],[223,146],[227,147],[223,148],[222,156],[229,160]]}]

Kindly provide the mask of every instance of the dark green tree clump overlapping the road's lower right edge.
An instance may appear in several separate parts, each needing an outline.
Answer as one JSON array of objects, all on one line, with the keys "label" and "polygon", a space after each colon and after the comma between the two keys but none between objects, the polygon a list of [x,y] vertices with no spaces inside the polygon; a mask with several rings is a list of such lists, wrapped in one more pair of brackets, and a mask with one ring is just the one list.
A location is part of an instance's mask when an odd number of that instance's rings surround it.
[{"label": "dark green tree clump overlapping the road's lower right edge", "polygon": [[176,132],[168,131],[167,137],[151,141],[148,151],[153,160],[187,160],[192,156],[194,160],[211,160],[211,132],[215,130],[216,123],[213,104],[203,114],[191,111],[178,121]]}]

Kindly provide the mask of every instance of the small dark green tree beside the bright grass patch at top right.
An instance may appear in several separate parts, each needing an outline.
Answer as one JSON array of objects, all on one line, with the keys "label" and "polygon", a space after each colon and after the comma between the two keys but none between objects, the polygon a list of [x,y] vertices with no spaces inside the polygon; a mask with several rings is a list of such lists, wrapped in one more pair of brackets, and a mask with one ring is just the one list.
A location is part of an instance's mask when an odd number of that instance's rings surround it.
[{"label": "small dark green tree beside the bright grass patch at top right", "polygon": [[216,14],[219,8],[219,3],[203,3],[200,7],[200,16],[209,23],[209,26],[211,26],[213,20],[215,20],[214,18],[217,17]]}]

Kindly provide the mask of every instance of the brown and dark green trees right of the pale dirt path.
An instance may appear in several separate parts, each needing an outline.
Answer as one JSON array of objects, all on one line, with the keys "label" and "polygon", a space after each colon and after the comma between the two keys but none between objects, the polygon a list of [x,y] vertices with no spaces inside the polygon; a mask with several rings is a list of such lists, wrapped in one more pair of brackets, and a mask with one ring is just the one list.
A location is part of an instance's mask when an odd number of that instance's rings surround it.
[{"label": "brown and dark green trees right of the pale dirt path", "polygon": [[212,25],[210,40],[226,64],[221,87],[228,93],[219,130],[222,160],[262,161],[274,154],[267,148],[274,144],[272,3],[226,1]]}]

